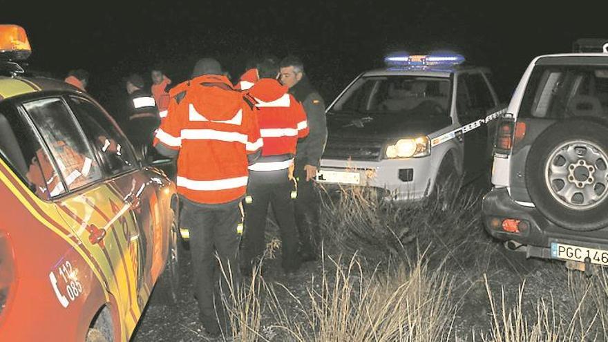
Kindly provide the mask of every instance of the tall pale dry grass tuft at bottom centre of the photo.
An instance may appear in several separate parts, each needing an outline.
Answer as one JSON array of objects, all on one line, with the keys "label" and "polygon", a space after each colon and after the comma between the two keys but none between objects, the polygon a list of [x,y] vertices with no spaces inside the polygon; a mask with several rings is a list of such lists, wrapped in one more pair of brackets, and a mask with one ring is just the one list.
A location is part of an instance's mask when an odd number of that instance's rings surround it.
[{"label": "tall pale dry grass tuft at bottom centre of the photo", "polygon": [[447,341],[455,313],[448,277],[429,272],[422,261],[408,268],[390,276],[366,275],[357,256],[347,265],[330,259],[320,287],[314,280],[308,298],[283,287],[298,303],[302,320],[290,319],[274,297],[272,312],[285,341]]}]

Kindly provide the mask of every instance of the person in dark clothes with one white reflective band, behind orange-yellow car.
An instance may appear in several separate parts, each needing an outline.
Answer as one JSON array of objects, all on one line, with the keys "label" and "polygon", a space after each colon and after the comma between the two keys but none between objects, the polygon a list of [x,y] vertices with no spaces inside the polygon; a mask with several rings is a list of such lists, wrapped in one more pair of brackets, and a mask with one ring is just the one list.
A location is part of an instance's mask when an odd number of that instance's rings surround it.
[{"label": "person in dark clothes with one white reflective band, behind orange-yellow car", "polygon": [[126,92],[129,93],[129,115],[124,123],[127,137],[135,147],[140,158],[146,158],[152,144],[154,131],[160,125],[160,116],[154,97],[144,90],[144,79],[133,74],[126,79]]}]

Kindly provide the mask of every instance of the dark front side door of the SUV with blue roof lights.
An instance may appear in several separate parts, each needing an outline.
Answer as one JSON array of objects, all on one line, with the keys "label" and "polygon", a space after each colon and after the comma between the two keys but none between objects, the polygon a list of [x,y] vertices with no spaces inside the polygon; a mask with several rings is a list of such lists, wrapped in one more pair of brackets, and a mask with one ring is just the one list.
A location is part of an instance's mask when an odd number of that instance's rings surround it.
[{"label": "dark front side door of the SUV with blue roof lights", "polygon": [[495,107],[495,100],[482,73],[474,71],[458,76],[457,115],[463,126],[464,168],[466,178],[475,178],[486,167],[488,126],[486,113]]}]

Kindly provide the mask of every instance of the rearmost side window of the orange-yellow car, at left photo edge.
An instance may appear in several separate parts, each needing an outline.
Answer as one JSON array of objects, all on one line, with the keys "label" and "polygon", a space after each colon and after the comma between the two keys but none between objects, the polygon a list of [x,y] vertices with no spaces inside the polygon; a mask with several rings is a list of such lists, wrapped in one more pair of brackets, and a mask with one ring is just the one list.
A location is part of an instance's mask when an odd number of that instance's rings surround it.
[{"label": "rearmost side window of the orange-yellow car, at left photo edge", "polygon": [[64,192],[35,129],[8,102],[0,104],[0,155],[39,198],[48,200],[52,191]]}]

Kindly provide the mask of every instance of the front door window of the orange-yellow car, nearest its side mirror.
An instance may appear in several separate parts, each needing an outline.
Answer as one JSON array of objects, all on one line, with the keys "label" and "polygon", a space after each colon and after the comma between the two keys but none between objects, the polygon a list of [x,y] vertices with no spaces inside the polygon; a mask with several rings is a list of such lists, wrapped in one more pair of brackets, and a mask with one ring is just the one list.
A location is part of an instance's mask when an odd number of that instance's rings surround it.
[{"label": "front door window of the orange-yellow car, nearest its side mirror", "polygon": [[69,97],[84,133],[112,175],[135,169],[137,161],[126,138],[99,106],[82,97]]}]

